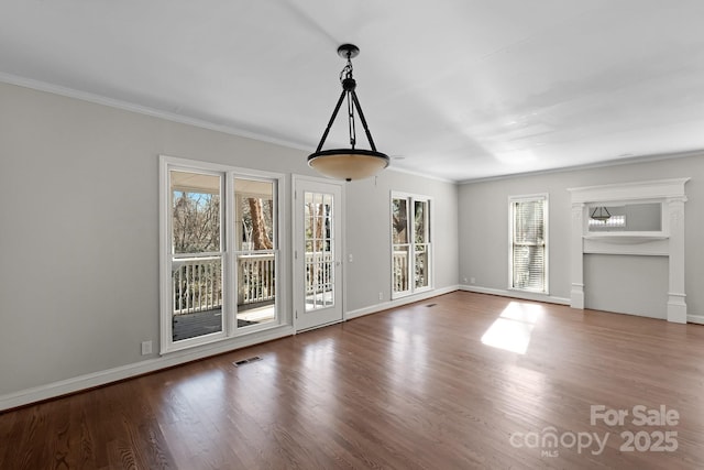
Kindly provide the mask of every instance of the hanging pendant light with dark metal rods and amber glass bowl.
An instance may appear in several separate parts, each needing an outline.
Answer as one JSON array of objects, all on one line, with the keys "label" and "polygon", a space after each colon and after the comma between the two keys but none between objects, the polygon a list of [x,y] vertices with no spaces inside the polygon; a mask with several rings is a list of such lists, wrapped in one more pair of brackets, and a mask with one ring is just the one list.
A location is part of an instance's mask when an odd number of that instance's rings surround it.
[{"label": "hanging pendant light with dark metal rods and amber glass bowl", "polygon": [[[338,103],[332,111],[332,117],[328,122],[328,127],[322,133],[318,149],[315,153],[308,155],[308,165],[318,171],[319,173],[338,179],[352,181],[363,179],[370,176],[374,176],[382,170],[388,166],[388,155],[378,152],[372,133],[366,125],[366,119],[362,112],[360,100],[356,97],[354,89],[356,88],[356,81],[352,77],[352,58],[360,54],[360,48],[354,44],[342,44],[338,47],[338,55],[348,61],[346,65],[340,73],[340,83],[342,84],[342,94]],[[334,122],[334,118],[340,111],[342,102],[346,100],[348,105],[348,124],[350,130],[350,149],[332,149],[322,150],[322,145],[328,138],[330,128]],[[355,111],[359,114],[360,122],[366,133],[366,140],[370,143],[372,150],[356,149],[356,129],[355,129]]]}]

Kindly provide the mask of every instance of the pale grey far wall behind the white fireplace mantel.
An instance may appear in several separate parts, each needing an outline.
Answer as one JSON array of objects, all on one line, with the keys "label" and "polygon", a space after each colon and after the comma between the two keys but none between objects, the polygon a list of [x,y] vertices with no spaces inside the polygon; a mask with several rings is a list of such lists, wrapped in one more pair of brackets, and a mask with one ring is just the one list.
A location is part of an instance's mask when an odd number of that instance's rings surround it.
[{"label": "pale grey far wall behind the white fireplace mantel", "polygon": [[[686,184],[685,289],[690,315],[704,314],[704,152],[686,157],[526,175],[468,183],[459,189],[460,281],[471,288],[505,292],[508,286],[508,196],[549,193],[550,297],[570,298],[570,215],[566,188],[650,179],[691,177]],[[616,278],[613,280],[616,285]],[[585,291],[588,286],[585,286]]]}]

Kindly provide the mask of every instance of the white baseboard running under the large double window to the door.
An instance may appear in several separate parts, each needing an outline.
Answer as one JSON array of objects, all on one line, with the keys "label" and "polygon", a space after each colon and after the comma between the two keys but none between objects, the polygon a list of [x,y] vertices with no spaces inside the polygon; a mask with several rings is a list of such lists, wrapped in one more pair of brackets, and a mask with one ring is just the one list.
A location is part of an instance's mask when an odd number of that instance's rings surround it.
[{"label": "white baseboard running under the large double window to the door", "polygon": [[118,368],[112,368],[105,371],[79,375],[76,378],[48,383],[46,385],[40,385],[32,389],[22,390],[20,392],[0,395],[0,412],[48,398],[55,398],[57,396],[79,392],[81,390],[106,385],[111,382],[130,379],[136,375],[158,371],[161,369],[170,368],[198,359],[204,359],[209,356],[234,351],[237,349],[246,348],[248,346],[253,346],[260,342],[272,341],[274,339],[292,336],[293,334],[294,329],[290,326],[274,328],[271,330],[262,331],[261,335],[238,338],[239,340],[223,341],[202,346],[200,348],[169,352],[160,358],[147,359],[140,362],[134,362],[132,364],[120,365]]}]

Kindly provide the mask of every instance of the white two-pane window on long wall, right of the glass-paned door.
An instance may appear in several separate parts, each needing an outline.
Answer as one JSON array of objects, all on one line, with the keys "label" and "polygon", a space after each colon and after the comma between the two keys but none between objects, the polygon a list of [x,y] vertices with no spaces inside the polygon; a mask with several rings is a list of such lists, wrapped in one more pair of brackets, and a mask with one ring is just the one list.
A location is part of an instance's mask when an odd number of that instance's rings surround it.
[{"label": "white two-pane window on long wall, right of the glass-paned door", "polygon": [[392,193],[392,297],[432,288],[430,198]]}]

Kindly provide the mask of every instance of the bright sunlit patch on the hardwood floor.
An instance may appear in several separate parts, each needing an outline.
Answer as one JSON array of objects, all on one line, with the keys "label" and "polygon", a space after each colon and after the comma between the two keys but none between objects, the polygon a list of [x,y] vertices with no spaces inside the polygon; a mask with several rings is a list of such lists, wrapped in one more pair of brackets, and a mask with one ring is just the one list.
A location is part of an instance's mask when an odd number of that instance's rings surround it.
[{"label": "bright sunlit patch on the hardwood floor", "polygon": [[525,354],[532,329],[542,314],[540,305],[512,302],[484,332],[482,343]]}]

